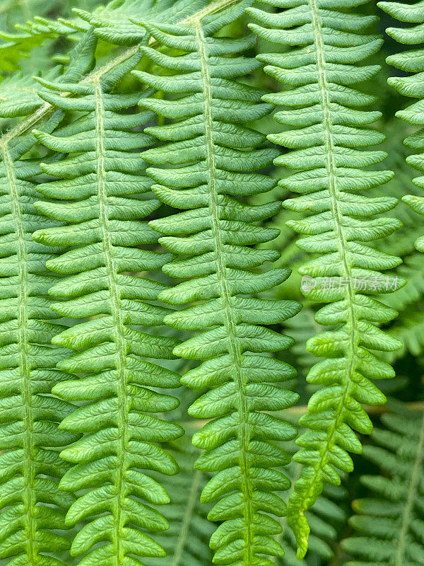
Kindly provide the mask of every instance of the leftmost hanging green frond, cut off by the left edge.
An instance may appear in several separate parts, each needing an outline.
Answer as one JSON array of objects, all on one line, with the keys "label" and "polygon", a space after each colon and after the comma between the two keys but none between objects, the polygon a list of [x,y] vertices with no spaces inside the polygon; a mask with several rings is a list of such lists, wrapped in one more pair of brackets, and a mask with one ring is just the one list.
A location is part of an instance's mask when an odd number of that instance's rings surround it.
[{"label": "leftmost hanging green frond, cut off by the left edge", "polygon": [[[90,60],[81,45],[70,69],[84,71]],[[60,119],[56,112],[45,122],[43,135]],[[66,379],[56,364],[68,353],[51,345],[61,327],[47,298],[57,278],[45,262],[57,250],[31,238],[40,226],[52,226],[33,206],[40,195],[30,178],[40,166],[24,156],[36,141],[6,134],[0,143],[0,560],[13,566],[65,564],[59,556],[70,545],[63,531],[74,499],[58,487],[69,468],[58,448],[76,439],[59,423],[73,407],[51,395]]]}]

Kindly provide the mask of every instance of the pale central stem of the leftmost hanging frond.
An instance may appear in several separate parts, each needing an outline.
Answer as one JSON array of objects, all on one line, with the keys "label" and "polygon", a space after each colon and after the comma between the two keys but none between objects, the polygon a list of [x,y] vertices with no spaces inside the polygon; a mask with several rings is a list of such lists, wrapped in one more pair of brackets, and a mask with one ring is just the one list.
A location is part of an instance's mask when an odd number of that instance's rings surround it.
[{"label": "pale central stem of the leftmost hanging frond", "polygon": [[28,538],[28,561],[34,566],[37,564],[37,550],[35,548],[35,517],[33,511],[35,509],[36,499],[33,486],[33,478],[35,475],[33,454],[34,454],[34,439],[33,439],[33,410],[31,403],[31,386],[30,386],[30,360],[28,359],[28,259],[25,246],[25,229],[23,226],[22,212],[20,209],[20,195],[18,185],[16,183],[16,175],[13,167],[13,161],[9,153],[8,144],[4,143],[0,146],[1,156],[3,158],[4,168],[10,187],[11,204],[13,209],[13,217],[16,221],[16,261],[19,266],[19,290],[18,290],[18,303],[19,309],[17,313],[18,320],[18,349],[20,355],[20,371],[22,375],[23,389],[21,391],[21,398],[25,416],[23,422],[25,424],[25,436],[23,441],[23,451],[25,454],[25,466],[23,466],[23,480],[26,502],[24,501],[25,509],[25,536]]}]

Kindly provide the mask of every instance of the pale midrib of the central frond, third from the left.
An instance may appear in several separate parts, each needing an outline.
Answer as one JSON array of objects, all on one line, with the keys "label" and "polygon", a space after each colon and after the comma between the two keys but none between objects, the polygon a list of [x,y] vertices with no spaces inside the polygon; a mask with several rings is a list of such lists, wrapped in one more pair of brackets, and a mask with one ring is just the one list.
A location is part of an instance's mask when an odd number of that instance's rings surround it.
[{"label": "pale midrib of the central frond, third from the left", "polygon": [[223,243],[220,236],[219,215],[218,215],[218,193],[216,191],[215,177],[215,151],[213,144],[213,120],[212,120],[212,93],[211,93],[211,76],[208,68],[208,53],[206,49],[206,40],[204,37],[201,20],[196,21],[194,25],[196,29],[196,40],[199,46],[199,57],[201,60],[201,79],[204,90],[204,117],[205,117],[205,138],[206,138],[206,162],[208,163],[209,173],[209,190],[211,195],[211,218],[212,218],[212,233],[216,241],[216,268],[218,275],[218,285],[220,287],[220,295],[223,299],[223,306],[225,312],[225,328],[228,333],[228,342],[230,345],[230,356],[234,364],[235,383],[237,383],[238,395],[240,398],[239,409],[239,430],[240,430],[240,472],[242,475],[242,492],[245,496],[245,524],[246,524],[246,549],[244,553],[243,562],[246,566],[250,565],[253,558],[253,545],[252,545],[252,524],[253,524],[253,509],[252,509],[252,486],[249,482],[249,464],[247,463],[247,447],[249,444],[249,434],[247,431],[247,421],[249,417],[249,410],[247,408],[247,395],[245,391],[245,383],[242,379],[241,372],[241,359],[240,347],[235,342],[236,335],[236,320],[230,304],[230,291],[228,289],[228,282],[226,277],[226,266],[223,254]]}]

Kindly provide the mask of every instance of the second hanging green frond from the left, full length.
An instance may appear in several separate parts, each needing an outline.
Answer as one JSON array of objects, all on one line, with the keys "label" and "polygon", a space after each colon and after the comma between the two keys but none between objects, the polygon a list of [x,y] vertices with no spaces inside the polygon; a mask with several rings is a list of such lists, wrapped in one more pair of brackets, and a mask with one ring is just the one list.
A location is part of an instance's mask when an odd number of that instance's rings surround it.
[{"label": "second hanging green frond from the left, full length", "polygon": [[[42,164],[43,171],[58,180],[40,185],[40,192],[53,200],[36,204],[40,212],[64,225],[36,231],[34,238],[47,246],[72,247],[49,260],[47,267],[66,276],[49,290],[57,299],[52,308],[61,316],[80,319],[53,342],[75,350],[58,367],[76,375],[55,386],[54,393],[85,402],[61,422],[62,430],[83,434],[61,452],[75,464],[61,487],[86,490],[66,516],[67,524],[88,519],[71,547],[73,555],[85,554],[79,562],[84,566],[99,562],[135,566],[143,556],[165,555],[140,530],[168,526],[163,515],[148,505],[169,501],[148,470],[177,473],[175,459],[158,443],[183,432],[149,414],[178,405],[175,397],[154,389],[178,386],[177,374],[146,361],[171,359],[177,340],[134,328],[161,325],[167,313],[150,302],[164,285],[134,274],[158,270],[170,259],[139,247],[158,241],[147,222],[138,220],[160,203],[151,198],[151,180],[143,173],[146,165],[132,151],[151,145],[151,136],[134,128],[143,127],[152,114],[122,113],[141,94],[112,92],[140,57],[139,52],[80,84],[42,81],[50,89],[42,93],[47,102],[84,113],[54,135],[35,131],[49,149],[68,154],[61,161]],[[73,98],[63,98],[62,91]],[[98,546],[99,542],[105,544]]]}]

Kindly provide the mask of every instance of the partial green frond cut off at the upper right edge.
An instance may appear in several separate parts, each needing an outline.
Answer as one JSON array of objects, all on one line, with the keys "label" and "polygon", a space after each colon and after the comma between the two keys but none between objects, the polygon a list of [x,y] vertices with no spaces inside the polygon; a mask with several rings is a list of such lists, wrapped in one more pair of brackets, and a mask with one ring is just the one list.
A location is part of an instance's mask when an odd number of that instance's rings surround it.
[{"label": "partial green frond cut off at the upper right edge", "polygon": [[[417,25],[408,28],[387,28],[386,32],[399,43],[417,45],[423,42],[424,37],[424,4],[421,1],[415,4],[401,4],[399,2],[379,2],[378,6],[394,18]],[[402,69],[410,76],[393,76],[388,79],[389,85],[404,96],[419,98],[418,102],[408,106],[405,110],[396,112],[396,116],[409,124],[420,126],[418,132],[408,136],[404,143],[413,150],[424,151],[424,50],[408,50],[387,57],[387,62],[396,69]],[[406,162],[419,171],[424,171],[424,153],[408,156]],[[420,188],[424,187],[424,177],[416,177],[413,183]],[[424,214],[424,197],[406,195],[403,198],[413,210]],[[416,241],[417,249],[424,252],[424,236]]]}]

